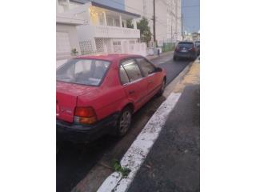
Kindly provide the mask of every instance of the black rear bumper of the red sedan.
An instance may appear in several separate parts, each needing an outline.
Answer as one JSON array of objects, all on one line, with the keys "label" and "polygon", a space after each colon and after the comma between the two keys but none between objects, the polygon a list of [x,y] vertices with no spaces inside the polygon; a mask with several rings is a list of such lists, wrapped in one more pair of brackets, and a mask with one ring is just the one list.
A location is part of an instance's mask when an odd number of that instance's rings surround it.
[{"label": "black rear bumper of the red sedan", "polygon": [[81,125],[56,120],[57,140],[70,142],[91,142],[104,134],[112,134],[118,119],[118,113],[95,123],[94,125]]}]

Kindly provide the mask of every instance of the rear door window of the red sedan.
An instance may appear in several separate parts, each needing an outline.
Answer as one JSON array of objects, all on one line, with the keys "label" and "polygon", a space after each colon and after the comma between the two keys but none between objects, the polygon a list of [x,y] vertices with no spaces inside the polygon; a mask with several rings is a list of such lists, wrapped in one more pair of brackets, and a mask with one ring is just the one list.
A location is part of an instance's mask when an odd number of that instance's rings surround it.
[{"label": "rear door window of the red sedan", "polygon": [[122,66],[126,70],[126,73],[130,78],[130,82],[134,82],[137,79],[142,78],[141,70],[138,68],[138,65],[134,59],[129,59],[122,62]]}]

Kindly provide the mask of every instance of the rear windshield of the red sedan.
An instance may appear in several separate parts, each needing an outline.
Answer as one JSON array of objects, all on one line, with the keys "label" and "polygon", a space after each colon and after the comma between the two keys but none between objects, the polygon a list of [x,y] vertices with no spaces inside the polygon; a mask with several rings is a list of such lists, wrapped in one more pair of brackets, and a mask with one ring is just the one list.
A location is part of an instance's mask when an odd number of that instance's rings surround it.
[{"label": "rear windshield of the red sedan", "polygon": [[109,66],[110,62],[102,60],[74,58],[58,68],[56,79],[86,86],[99,86]]}]

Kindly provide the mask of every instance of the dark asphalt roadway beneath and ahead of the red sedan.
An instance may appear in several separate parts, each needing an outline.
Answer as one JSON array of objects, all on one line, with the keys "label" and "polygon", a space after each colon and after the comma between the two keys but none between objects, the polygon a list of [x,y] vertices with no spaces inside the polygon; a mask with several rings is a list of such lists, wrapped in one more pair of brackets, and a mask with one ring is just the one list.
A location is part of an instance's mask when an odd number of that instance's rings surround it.
[{"label": "dark asphalt roadway beneath and ahead of the red sedan", "polygon": [[[167,84],[169,84],[190,61],[172,60],[172,54],[151,60],[156,66],[166,69]],[[62,143],[57,154],[57,191],[70,192],[78,182],[86,178],[90,170],[99,164],[110,166],[113,159],[121,159],[131,143],[142,130],[146,122],[165,100],[164,97],[152,98],[141,110],[133,116],[129,132],[122,139],[105,136],[86,146],[83,144]],[[93,191],[93,190],[92,190]]]}]

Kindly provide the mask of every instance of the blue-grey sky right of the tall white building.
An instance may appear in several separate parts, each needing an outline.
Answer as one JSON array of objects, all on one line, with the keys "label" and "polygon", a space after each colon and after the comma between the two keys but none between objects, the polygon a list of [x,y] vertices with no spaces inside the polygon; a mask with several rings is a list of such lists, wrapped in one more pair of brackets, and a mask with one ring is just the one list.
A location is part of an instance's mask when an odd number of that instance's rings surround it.
[{"label": "blue-grey sky right of the tall white building", "polygon": [[182,0],[182,14],[184,30],[189,33],[198,32],[200,30],[200,0]]}]

